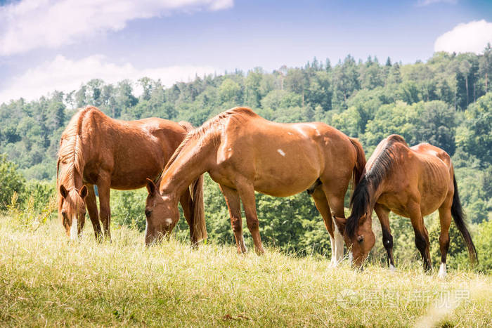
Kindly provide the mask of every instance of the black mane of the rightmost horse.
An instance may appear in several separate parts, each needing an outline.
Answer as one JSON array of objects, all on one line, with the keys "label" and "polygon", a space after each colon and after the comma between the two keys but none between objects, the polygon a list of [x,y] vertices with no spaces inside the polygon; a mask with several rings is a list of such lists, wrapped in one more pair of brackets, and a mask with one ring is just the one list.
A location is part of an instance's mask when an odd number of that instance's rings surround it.
[{"label": "black mane of the rightmost horse", "polygon": [[394,163],[396,162],[393,145],[395,143],[403,143],[408,147],[406,141],[397,135],[389,136],[386,138],[386,142],[386,145],[384,145],[380,154],[377,155],[368,172],[365,173],[365,176],[363,176],[356,186],[350,199],[351,214],[347,218],[347,224],[345,225],[345,232],[347,232],[349,237],[354,237],[359,219],[368,213],[368,207],[374,192],[384,178],[388,176],[391,169],[393,169]]}]

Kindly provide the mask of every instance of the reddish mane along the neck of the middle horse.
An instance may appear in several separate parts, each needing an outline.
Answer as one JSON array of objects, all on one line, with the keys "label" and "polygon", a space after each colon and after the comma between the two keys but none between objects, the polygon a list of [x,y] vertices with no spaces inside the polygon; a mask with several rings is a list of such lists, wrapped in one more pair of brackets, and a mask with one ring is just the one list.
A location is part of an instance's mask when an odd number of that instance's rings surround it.
[{"label": "reddish mane along the neck of the middle horse", "polygon": [[[179,147],[176,148],[174,151],[174,154],[171,156],[169,159],[169,162],[167,162],[166,166],[164,166],[164,171],[166,171],[171,164],[176,160],[176,158],[179,156],[183,148],[188,144],[190,140],[195,140],[197,138],[200,138],[202,136],[205,136],[208,131],[212,127],[219,127],[219,129],[224,129],[224,125],[226,122],[226,119],[231,118],[231,119],[244,119],[245,117],[255,117],[257,114],[253,112],[250,108],[247,107],[234,107],[231,108],[230,110],[226,110],[225,112],[221,112],[220,114],[217,114],[216,116],[212,117],[209,119],[207,122],[202,124],[200,128],[195,129],[193,131],[188,132],[186,137],[181,141],[181,144]],[[217,136],[220,136],[217,134]]]}]

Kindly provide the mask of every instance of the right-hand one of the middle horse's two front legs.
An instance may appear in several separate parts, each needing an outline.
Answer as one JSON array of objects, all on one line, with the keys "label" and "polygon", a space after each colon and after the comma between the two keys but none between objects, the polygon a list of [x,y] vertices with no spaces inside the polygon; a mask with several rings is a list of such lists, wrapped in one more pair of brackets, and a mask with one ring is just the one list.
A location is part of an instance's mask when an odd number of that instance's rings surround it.
[{"label": "right-hand one of the middle horse's two front legs", "polygon": [[242,205],[245,206],[246,223],[247,228],[251,232],[254,242],[254,251],[258,255],[264,254],[263,244],[261,243],[261,237],[259,235],[259,221],[257,216],[257,203],[254,199],[254,188],[251,183],[247,181],[238,183],[236,185],[238,188],[240,199],[242,200]]}]

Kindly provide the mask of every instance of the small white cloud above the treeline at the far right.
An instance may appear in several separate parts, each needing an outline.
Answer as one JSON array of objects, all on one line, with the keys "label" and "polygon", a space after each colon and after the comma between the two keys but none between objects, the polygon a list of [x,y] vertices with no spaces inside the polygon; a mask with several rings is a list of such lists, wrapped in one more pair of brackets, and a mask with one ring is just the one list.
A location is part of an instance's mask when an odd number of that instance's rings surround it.
[{"label": "small white cloud above the treeline at the far right", "polygon": [[488,42],[492,43],[492,22],[474,20],[461,23],[438,37],[434,51],[482,53]]}]

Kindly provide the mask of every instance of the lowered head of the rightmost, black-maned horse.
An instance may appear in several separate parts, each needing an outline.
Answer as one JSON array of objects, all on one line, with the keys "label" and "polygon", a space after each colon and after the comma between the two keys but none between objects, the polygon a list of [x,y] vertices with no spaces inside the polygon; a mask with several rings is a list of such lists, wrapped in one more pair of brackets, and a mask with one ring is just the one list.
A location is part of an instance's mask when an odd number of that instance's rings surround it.
[{"label": "lowered head of the rightmost, black-maned horse", "polygon": [[375,235],[372,228],[372,219],[370,215],[363,214],[361,218],[356,221],[354,227],[350,227],[347,224],[349,221],[354,222],[354,218],[335,218],[335,223],[340,231],[343,231],[344,241],[347,245],[347,249],[352,254],[352,265],[356,268],[362,268],[362,265],[366,258],[368,258],[369,252],[374,247]]}]

